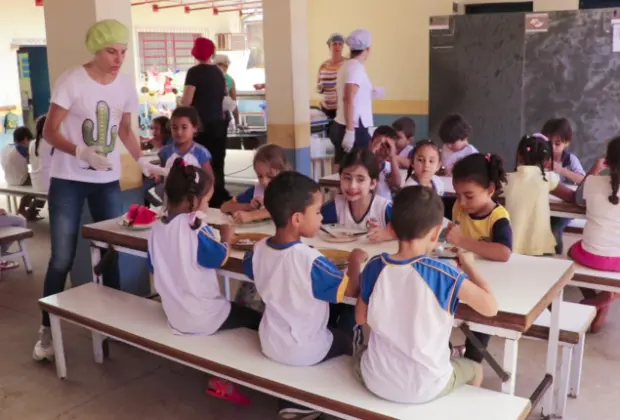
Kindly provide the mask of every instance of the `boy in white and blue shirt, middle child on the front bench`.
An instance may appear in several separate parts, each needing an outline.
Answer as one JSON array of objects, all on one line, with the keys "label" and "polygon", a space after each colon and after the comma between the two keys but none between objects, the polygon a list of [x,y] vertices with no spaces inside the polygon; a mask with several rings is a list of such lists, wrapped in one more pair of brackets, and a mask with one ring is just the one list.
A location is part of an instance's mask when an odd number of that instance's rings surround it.
[{"label": "boy in white and blue shirt, middle child on the front bench", "polygon": [[[330,303],[359,293],[359,249],[342,273],[318,250],[301,242],[321,227],[323,196],[319,185],[297,172],[282,172],[265,189],[264,205],[276,234],[246,254],[243,271],[265,303],[258,329],[265,356],[293,366],[312,366],[353,351],[353,330],[328,328]],[[281,401],[285,419],[315,419],[321,413]]]}]

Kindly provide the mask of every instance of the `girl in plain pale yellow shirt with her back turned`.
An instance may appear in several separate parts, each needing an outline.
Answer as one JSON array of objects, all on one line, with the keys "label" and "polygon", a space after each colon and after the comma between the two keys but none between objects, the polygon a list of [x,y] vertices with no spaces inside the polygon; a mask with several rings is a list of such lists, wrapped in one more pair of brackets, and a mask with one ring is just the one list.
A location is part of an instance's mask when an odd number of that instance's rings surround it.
[{"label": "girl in plain pale yellow shirt with her back turned", "polygon": [[508,174],[504,189],[514,234],[513,251],[518,254],[555,254],[549,194],[573,202],[575,192],[560,183],[552,168],[553,148],[547,138],[540,134],[523,137],[517,148],[517,170]]}]

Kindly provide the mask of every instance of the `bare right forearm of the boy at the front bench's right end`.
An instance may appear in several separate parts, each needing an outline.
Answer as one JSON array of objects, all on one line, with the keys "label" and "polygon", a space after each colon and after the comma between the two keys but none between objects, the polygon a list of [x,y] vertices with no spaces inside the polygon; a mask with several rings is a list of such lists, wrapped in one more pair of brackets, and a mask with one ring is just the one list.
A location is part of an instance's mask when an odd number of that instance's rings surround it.
[{"label": "bare right forearm of the boy at the front bench's right end", "polygon": [[459,262],[468,279],[464,279],[458,297],[474,311],[484,316],[497,315],[497,300],[489,283],[475,267],[471,253],[459,253]]}]

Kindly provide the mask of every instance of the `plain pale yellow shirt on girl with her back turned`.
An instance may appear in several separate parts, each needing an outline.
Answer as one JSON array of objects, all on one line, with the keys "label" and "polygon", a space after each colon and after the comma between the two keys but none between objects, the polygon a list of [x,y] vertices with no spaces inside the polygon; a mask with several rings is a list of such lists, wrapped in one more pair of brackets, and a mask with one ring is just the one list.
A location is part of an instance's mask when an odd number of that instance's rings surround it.
[{"label": "plain pale yellow shirt on girl with her back turned", "polygon": [[549,222],[551,207],[549,193],[560,183],[555,172],[545,172],[546,181],[538,166],[519,166],[506,175],[504,207],[512,225],[512,251],[524,255],[555,253],[555,237]]}]

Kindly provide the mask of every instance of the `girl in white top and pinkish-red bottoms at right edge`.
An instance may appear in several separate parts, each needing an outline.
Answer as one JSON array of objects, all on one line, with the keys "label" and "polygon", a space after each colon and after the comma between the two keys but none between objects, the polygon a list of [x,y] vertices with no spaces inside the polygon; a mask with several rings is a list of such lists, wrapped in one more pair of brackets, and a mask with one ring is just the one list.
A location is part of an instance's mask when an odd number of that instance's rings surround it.
[{"label": "girl in white top and pinkish-red bottoms at right edge", "polygon": [[[607,169],[609,175],[600,175]],[[586,206],[586,225],[582,240],[568,255],[577,263],[595,270],[620,272],[620,137],[607,145],[607,155],[599,159],[577,189],[577,204]],[[591,326],[597,332],[605,323],[614,294],[581,289],[581,303],[596,306]]]}]

